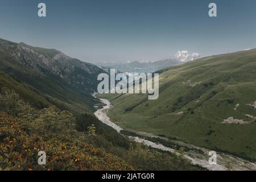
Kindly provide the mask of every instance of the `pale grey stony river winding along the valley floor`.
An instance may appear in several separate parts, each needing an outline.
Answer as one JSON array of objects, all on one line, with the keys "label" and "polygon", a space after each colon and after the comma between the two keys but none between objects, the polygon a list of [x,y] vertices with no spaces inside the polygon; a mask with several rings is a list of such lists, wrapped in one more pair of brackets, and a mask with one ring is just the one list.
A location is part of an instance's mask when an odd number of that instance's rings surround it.
[{"label": "pale grey stony river winding along the valley floor", "polygon": [[[96,94],[93,94],[94,97]],[[111,126],[113,129],[115,129],[118,133],[122,130],[122,128],[118,125],[116,125],[114,122],[110,120],[108,117],[108,110],[111,109],[113,106],[111,103],[103,98],[99,98],[100,101],[105,104],[102,108],[98,109],[94,115],[102,122],[105,123],[108,126]],[[139,133],[139,134],[144,134],[145,136],[151,136],[151,137],[158,137],[154,136],[152,134],[147,134],[147,133]],[[142,143],[146,146],[150,146],[152,148],[158,148],[163,151],[170,151],[170,152],[175,152],[173,148],[163,146],[162,144],[159,143],[154,143],[146,139],[142,139],[139,137],[131,137],[129,136],[131,140],[134,140],[135,142]],[[232,168],[232,170],[256,170],[256,164],[251,163],[247,160],[238,158],[236,156],[230,155],[230,154],[224,154],[221,152],[217,152],[217,164],[209,164],[208,159],[209,159],[209,151],[207,148],[203,147],[197,147],[192,144],[187,144],[187,143],[182,143],[179,142],[179,144],[182,146],[187,146],[191,148],[197,148],[200,149],[201,151],[204,152],[204,154],[201,154],[200,152],[196,152],[195,150],[187,151],[185,152],[184,156],[185,158],[191,160],[193,164],[199,164],[202,167],[208,168],[209,170],[212,171],[226,171],[228,168],[226,167],[227,164],[229,167]]]}]

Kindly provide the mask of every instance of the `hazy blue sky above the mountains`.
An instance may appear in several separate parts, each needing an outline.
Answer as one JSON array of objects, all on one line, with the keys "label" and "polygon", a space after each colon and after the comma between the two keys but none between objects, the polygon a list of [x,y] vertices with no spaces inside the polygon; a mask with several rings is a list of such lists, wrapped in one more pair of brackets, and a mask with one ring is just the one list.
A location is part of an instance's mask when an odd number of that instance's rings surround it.
[{"label": "hazy blue sky above the mountains", "polygon": [[[38,3],[47,5],[39,18]],[[217,18],[208,16],[217,3]],[[159,60],[256,48],[255,0],[0,0],[0,38],[84,61]]]}]

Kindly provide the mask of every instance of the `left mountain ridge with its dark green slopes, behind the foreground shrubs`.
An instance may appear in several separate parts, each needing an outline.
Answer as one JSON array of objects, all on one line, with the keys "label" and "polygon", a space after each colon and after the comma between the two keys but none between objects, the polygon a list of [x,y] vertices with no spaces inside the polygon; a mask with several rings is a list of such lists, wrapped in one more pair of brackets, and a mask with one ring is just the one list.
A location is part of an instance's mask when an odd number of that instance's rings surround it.
[{"label": "left mountain ridge with its dark green slopes, behind the foreground shrubs", "polygon": [[97,90],[97,75],[105,73],[96,65],[73,59],[56,49],[35,48],[3,39],[0,39],[0,54],[1,71],[32,90],[40,90],[44,99],[59,102],[67,110],[94,110],[96,101],[90,94]]}]

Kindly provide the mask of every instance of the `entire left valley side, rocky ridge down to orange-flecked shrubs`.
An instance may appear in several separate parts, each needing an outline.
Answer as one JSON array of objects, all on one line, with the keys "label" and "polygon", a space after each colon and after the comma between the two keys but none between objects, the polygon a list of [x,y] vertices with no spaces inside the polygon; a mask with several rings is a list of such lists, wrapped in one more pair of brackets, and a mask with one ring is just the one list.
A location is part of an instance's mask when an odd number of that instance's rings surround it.
[{"label": "entire left valley side, rocky ridge down to orange-flecked shrubs", "polygon": [[0,171],[206,170],[94,117],[100,73],[56,49],[0,39]]}]

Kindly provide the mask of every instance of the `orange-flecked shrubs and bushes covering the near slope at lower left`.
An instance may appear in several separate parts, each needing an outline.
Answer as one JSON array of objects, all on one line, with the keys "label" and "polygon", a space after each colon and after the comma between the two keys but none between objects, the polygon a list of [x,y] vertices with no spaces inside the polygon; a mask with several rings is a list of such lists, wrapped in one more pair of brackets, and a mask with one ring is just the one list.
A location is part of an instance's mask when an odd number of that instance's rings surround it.
[{"label": "orange-flecked shrubs and bushes covering the near slope at lower left", "polygon": [[[47,163],[38,164],[46,151]],[[182,155],[131,142],[90,114],[35,109],[9,89],[0,94],[0,170],[198,170]]]}]

